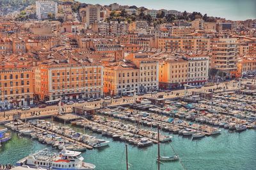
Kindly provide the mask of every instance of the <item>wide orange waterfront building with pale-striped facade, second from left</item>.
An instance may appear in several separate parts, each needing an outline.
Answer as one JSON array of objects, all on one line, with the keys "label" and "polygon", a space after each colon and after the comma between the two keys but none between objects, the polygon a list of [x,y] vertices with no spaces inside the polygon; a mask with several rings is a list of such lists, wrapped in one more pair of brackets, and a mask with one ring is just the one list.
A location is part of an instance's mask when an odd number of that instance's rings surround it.
[{"label": "wide orange waterfront building with pale-striped facade, second from left", "polygon": [[97,63],[42,64],[35,68],[35,95],[43,101],[57,98],[102,97],[103,67]]}]

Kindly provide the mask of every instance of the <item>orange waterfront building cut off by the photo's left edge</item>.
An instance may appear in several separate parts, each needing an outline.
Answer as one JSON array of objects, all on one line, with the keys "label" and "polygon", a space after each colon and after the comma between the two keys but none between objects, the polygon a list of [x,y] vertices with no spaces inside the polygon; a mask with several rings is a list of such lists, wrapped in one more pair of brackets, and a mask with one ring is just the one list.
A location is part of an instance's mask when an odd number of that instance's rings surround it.
[{"label": "orange waterfront building cut off by the photo's left edge", "polygon": [[0,111],[33,104],[33,68],[4,65],[0,69]]}]

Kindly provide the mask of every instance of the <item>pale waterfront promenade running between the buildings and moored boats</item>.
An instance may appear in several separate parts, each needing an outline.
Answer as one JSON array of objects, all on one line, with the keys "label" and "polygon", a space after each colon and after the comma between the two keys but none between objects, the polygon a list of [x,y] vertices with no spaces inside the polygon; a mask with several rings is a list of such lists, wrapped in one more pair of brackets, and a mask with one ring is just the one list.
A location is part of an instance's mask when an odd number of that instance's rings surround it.
[{"label": "pale waterfront promenade running between the buildings and moored boats", "polygon": [[[232,90],[232,89],[238,89],[238,83],[234,83],[233,81],[231,82],[223,82],[218,84],[218,87],[228,89],[228,90]],[[209,87],[202,87],[200,89],[196,89],[196,88],[191,88],[188,89],[187,94],[191,95],[192,91],[209,91],[209,89],[216,89],[217,85],[215,86],[209,86]],[[223,89],[220,89],[218,91],[223,91]],[[179,90],[173,90],[170,93],[165,93],[165,92],[159,92],[157,94],[153,94],[152,97],[158,97],[159,95],[163,95],[164,98],[175,98],[175,97],[183,97],[184,96],[184,89],[179,89]],[[137,98],[141,98],[141,97],[151,97],[151,94],[145,94],[143,96],[136,96]],[[73,106],[86,106],[86,107],[91,107],[91,108],[100,108],[102,106],[102,102],[105,101],[108,103],[108,105],[121,105],[121,104],[132,104],[134,102],[134,97],[122,97],[122,98],[118,98],[118,99],[113,99],[111,98],[111,100],[100,100],[100,101],[95,101],[95,102],[84,102],[83,104],[72,104],[72,105],[63,105],[61,107],[63,107],[63,109],[65,109],[65,112],[71,112],[72,111],[72,107]],[[12,116],[13,114],[17,114],[18,112],[20,112],[21,118],[28,118],[28,117],[35,117],[35,115],[31,114],[33,112],[35,112],[36,114],[40,115],[38,116],[47,116],[47,115],[52,115],[52,114],[58,114],[58,105],[50,105],[47,106],[45,108],[31,108],[28,111],[21,111],[21,110],[11,110],[11,111],[6,111],[5,112],[5,118],[4,118],[4,112],[0,112],[0,121],[6,121],[6,120],[12,120]]]}]

